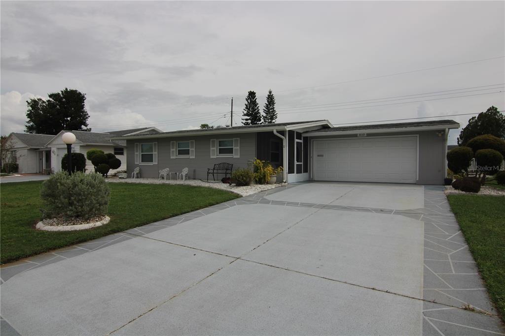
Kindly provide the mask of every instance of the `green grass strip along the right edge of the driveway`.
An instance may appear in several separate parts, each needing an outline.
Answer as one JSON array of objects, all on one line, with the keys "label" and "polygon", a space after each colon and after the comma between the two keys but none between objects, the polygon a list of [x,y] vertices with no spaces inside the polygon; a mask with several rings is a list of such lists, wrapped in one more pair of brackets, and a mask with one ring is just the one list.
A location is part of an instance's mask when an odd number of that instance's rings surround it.
[{"label": "green grass strip along the right edge of the driveway", "polygon": [[491,299],[505,319],[505,197],[448,195]]}]

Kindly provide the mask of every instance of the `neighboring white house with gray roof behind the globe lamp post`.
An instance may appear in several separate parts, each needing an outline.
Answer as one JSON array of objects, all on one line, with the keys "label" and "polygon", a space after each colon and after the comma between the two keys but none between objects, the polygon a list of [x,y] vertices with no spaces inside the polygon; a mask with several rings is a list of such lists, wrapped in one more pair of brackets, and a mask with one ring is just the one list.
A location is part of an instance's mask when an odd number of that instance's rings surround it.
[{"label": "neighboring white house with gray roof behind the globe lamp post", "polygon": [[[56,173],[61,171],[61,160],[67,153],[67,145],[62,140],[65,132],[72,132],[76,137],[72,145],[72,152],[86,156],[88,150],[96,148],[106,153],[113,153],[121,160],[121,166],[110,173],[126,170],[126,141],[115,140],[111,137],[123,135],[155,134],[162,131],[155,127],[111,131],[106,133],[85,131],[61,131],[57,135],[42,135],[29,133],[11,133],[19,173]],[[93,165],[86,159],[86,172],[93,170]]]}]

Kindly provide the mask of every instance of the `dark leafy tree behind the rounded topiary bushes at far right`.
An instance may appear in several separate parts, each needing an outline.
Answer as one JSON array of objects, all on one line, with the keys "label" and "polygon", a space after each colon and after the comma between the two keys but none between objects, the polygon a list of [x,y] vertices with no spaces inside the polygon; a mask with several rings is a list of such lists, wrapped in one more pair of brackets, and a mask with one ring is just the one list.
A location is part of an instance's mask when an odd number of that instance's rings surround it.
[{"label": "dark leafy tree behind the rounded topiary bushes at far right", "polygon": [[466,146],[470,139],[483,134],[505,138],[505,116],[494,106],[468,121],[468,125],[461,130],[458,137],[458,145]]}]

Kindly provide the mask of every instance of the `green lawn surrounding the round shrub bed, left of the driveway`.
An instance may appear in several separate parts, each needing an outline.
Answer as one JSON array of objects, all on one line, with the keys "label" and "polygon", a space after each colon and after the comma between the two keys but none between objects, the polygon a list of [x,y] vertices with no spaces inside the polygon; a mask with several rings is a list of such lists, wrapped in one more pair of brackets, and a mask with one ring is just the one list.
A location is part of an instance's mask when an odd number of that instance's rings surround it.
[{"label": "green lawn surrounding the round shrub bed, left of the driveway", "polygon": [[42,182],[2,184],[0,189],[1,263],[96,239],[239,197],[233,193],[183,185],[111,183],[109,216],[99,228],[71,232],[34,229],[40,219]]}]

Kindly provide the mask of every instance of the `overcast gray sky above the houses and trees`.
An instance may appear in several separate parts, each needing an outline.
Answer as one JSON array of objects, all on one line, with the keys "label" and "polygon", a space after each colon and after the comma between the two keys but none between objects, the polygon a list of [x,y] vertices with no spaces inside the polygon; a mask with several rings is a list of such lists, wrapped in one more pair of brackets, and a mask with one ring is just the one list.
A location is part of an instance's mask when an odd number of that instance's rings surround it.
[{"label": "overcast gray sky above the houses and trees", "polygon": [[[505,108],[502,1],[0,7],[2,134],[24,131],[27,99],[65,87],[86,94],[89,125],[100,132],[229,124],[231,97],[240,123],[247,91],[263,105],[270,88],[278,122]],[[484,59],[492,60],[474,62]],[[429,68],[437,69],[417,71]],[[442,119],[464,126],[470,117]]]}]

